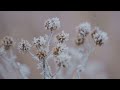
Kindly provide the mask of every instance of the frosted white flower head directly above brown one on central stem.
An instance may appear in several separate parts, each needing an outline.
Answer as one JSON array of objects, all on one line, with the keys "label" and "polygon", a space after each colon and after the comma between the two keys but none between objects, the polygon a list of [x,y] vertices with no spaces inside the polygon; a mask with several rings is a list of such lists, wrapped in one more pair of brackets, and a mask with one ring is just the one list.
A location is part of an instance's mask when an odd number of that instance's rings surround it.
[{"label": "frosted white flower head directly above brown one on central stem", "polygon": [[34,37],[33,44],[39,50],[39,49],[45,47],[47,40],[48,40],[48,36],[47,35],[45,35],[45,37],[42,37],[42,36],[40,36],[38,38]]}]

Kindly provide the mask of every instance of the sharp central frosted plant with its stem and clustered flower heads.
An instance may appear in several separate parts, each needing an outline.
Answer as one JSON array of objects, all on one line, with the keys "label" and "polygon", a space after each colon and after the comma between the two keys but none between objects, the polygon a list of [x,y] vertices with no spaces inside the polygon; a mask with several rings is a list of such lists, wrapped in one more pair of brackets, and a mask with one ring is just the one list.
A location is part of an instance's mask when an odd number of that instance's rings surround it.
[{"label": "sharp central frosted plant with its stem and clustered flower heads", "polygon": [[[55,45],[50,51],[50,42],[52,40],[53,32],[60,28],[59,18],[51,18],[45,22],[45,29],[51,31],[51,35],[34,37],[32,41],[32,45],[27,40],[21,40],[18,44],[18,49],[22,53],[29,52],[34,59],[38,61],[38,68],[42,69],[42,75],[44,78],[53,78],[57,74],[52,74],[50,66],[48,65],[47,58],[52,55],[58,67],[67,67],[68,62],[71,59],[71,56],[68,55],[65,42],[69,40],[69,34],[62,31],[58,33],[53,40],[55,40]],[[35,54],[32,54],[30,51],[31,47],[35,47],[37,49]]]}]

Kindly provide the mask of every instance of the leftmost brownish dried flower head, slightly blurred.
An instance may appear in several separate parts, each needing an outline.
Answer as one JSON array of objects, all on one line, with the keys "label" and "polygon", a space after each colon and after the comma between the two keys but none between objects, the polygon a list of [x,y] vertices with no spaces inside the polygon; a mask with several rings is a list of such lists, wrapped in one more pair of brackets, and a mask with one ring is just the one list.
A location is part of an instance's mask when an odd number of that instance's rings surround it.
[{"label": "leftmost brownish dried flower head, slightly blurred", "polygon": [[5,36],[1,43],[5,50],[9,50],[14,45],[14,40],[10,36]]}]

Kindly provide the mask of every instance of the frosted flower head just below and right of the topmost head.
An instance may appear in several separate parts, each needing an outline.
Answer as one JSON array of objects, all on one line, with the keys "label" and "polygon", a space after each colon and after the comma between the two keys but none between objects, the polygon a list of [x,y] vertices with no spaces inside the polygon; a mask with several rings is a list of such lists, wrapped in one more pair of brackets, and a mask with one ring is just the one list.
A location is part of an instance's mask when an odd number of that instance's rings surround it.
[{"label": "frosted flower head just below and right of the topmost head", "polygon": [[62,31],[61,33],[55,36],[55,41],[58,43],[64,43],[64,41],[68,41],[68,40],[69,40],[69,34],[65,33],[64,31]]}]

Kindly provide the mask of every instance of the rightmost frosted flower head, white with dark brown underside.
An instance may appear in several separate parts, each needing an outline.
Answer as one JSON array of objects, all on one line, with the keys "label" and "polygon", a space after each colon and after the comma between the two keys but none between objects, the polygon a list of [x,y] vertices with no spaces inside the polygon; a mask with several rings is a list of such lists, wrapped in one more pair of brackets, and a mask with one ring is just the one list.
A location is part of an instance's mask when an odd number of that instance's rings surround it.
[{"label": "rightmost frosted flower head, white with dark brown underside", "polygon": [[91,36],[95,41],[96,45],[99,46],[101,46],[106,40],[108,40],[107,33],[101,31],[98,27],[95,27],[94,32],[91,34]]}]

